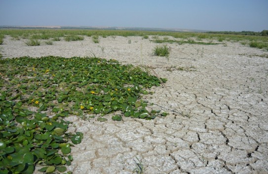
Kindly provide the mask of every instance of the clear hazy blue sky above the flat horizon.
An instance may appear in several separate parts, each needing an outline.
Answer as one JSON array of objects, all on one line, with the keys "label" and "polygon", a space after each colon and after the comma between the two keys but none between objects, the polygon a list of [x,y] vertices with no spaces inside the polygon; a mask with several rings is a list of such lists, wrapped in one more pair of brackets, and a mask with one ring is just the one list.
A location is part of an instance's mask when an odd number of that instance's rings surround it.
[{"label": "clear hazy blue sky above the flat horizon", "polygon": [[0,26],[262,31],[268,0],[0,0]]}]

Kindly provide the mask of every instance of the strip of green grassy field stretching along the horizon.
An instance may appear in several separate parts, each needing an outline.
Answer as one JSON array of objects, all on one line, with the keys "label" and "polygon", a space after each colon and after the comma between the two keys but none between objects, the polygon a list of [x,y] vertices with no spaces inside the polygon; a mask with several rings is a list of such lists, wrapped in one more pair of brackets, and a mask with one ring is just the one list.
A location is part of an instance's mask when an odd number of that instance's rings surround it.
[{"label": "strip of green grassy field stretching along the horizon", "polygon": [[[66,41],[83,40],[83,36],[172,36],[174,38],[197,40],[207,39],[210,41],[217,40],[240,42],[243,45],[248,45],[254,48],[268,50],[267,36],[239,35],[239,34],[224,34],[224,33],[200,33],[200,32],[169,32],[169,31],[135,31],[135,30],[83,30],[83,29],[1,29],[0,44],[3,42],[5,35],[10,35],[14,40],[30,39],[34,40],[60,40],[63,38]],[[79,37],[77,37],[79,36]],[[157,39],[157,37],[155,37]],[[160,41],[165,42],[165,41]],[[170,42],[170,41],[169,41]]]}]

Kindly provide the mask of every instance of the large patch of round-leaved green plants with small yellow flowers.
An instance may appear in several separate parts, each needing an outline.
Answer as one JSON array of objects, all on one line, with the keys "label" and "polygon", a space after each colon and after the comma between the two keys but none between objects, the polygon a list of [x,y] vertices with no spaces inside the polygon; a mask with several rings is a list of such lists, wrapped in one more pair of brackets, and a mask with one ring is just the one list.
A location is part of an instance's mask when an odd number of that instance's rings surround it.
[{"label": "large patch of round-leaved green plants with small yellow flowers", "polygon": [[41,172],[65,172],[71,146],[83,138],[67,133],[66,116],[166,116],[148,111],[141,99],[161,81],[139,67],[101,58],[0,59],[0,173],[31,174],[38,165]]}]

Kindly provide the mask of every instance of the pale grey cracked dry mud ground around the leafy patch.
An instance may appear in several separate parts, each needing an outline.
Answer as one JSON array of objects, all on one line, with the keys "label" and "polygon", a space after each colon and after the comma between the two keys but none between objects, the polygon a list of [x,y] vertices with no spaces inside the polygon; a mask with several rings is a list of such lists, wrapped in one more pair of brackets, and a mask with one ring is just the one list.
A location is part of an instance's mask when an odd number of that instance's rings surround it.
[{"label": "pale grey cracked dry mud ground around the leafy patch", "polygon": [[[139,36],[100,38],[99,44],[90,37],[53,43],[29,47],[7,36],[1,51],[4,57],[94,53],[152,66],[159,77],[168,79],[166,87],[153,87],[154,93],[144,96],[153,108],[170,113],[164,118],[67,118],[73,121],[70,131],[84,133],[71,152],[74,161],[68,169],[74,174],[131,174],[136,156],[146,174],[268,173],[268,58],[247,56],[267,52],[237,42],[173,43],[167,44],[172,50],[168,60],[153,56],[156,44]],[[191,66],[194,71],[178,70]]]}]

